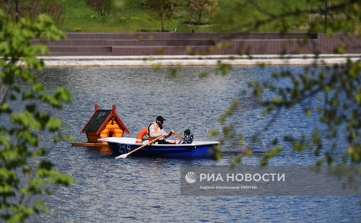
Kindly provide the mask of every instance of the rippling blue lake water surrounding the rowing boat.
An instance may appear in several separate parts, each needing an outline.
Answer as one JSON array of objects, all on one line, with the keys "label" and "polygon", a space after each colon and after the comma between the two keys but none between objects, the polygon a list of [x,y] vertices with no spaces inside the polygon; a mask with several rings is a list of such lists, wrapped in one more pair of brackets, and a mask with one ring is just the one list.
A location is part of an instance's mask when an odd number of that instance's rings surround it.
[{"label": "rippling blue lake water surrounding the rowing boat", "polygon": [[[249,137],[262,130],[269,118],[261,115],[256,98],[242,90],[249,90],[251,80],[268,80],[272,71],[302,72],[301,66],[232,67],[223,76],[214,73],[215,67],[182,67],[182,76],[172,77],[167,68],[157,72],[151,67],[61,67],[46,68],[38,73],[38,80],[47,89],[67,87],[73,94],[72,104],[61,111],[53,111],[68,126],[64,131],[77,142],[87,141],[79,132],[94,112],[112,109],[136,137],[139,130],[162,115],[166,130],[181,134],[189,128],[196,141],[209,138],[212,129],[221,132],[219,116],[240,97],[240,109],[226,123],[234,124],[236,135]],[[209,72],[201,78],[201,71]],[[278,86],[287,81],[275,82]],[[317,98],[306,106],[316,108]],[[45,109],[45,108],[44,108]],[[282,141],[285,134],[299,137],[319,127],[318,116],[307,118],[303,107],[281,111],[275,125],[262,131],[260,143],[249,142],[255,153],[245,156],[242,165],[257,165],[264,152],[272,149],[270,141]],[[323,132],[322,132],[323,133]],[[340,129],[340,133],[344,130]],[[172,136],[170,139],[177,139]],[[180,167],[184,165],[229,165],[229,158],[238,148],[231,141],[222,151],[232,148],[220,160],[139,158],[114,159],[108,150],[72,147],[70,142],[54,145],[44,140],[49,148],[48,160],[56,170],[68,173],[75,183],[68,188],[55,187],[51,196],[40,196],[49,213],[33,215],[26,222],[361,222],[360,197],[181,197]],[[333,142],[325,142],[322,154],[330,151]],[[335,141],[332,153],[341,156],[345,151],[343,138]],[[312,151],[297,153],[290,144],[280,142],[281,154],[269,165],[309,165],[320,157]],[[245,145],[247,146],[247,145]],[[242,149],[242,148],[241,148]]]}]

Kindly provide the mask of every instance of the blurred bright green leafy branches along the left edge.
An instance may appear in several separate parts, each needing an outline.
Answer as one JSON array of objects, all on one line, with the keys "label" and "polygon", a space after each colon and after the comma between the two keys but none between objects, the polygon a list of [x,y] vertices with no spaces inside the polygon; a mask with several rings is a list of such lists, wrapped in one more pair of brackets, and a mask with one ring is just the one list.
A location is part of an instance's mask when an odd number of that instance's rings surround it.
[{"label": "blurred bright green leafy branches along the left edge", "polygon": [[[53,165],[44,158],[46,150],[41,147],[46,132],[55,133],[65,126],[60,119],[38,110],[43,103],[60,109],[62,103],[70,103],[71,94],[64,88],[46,94],[45,87],[28,69],[42,70],[43,61],[36,59],[36,55],[48,53],[45,46],[31,45],[32,39],[65,38],[51,18],[40,14],[34,22],[22,18],[18,24],[5,23],[3,18],[4,12],[0,10],[0,118],[8,119],[12,125],[0,123],[0,210],[6,222],[23,222],[32,213],[48,211],[41,201],[25,206],[22,204],[25,200],[34,194],[49,194],[48,183],[68,186],[73,182],[70,176],[53,170]],[[26,67],[19,67],[20,63]],[[21,89],[19,82],[26,83],[28,89]],[[7,102],[17,100],[15,94],[22,96],[25,110]],[[58,134],[55,139],[72,137]],[[21,178],[26,179],[25,184],[19,183]]]}]

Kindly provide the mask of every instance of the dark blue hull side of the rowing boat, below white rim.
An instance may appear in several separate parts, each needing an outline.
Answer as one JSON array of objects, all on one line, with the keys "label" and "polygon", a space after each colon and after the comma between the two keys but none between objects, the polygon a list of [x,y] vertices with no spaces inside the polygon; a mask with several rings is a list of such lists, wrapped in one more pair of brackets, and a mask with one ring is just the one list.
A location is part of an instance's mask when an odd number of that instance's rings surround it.
[{"label": "dark blue hull side of the rowing boat, below white rim", "polygon": [[[108,142],[108,146],[112,151],[113,155],[121,155],[129,153],[132,150],[135,150],[139,145],[126,145],[114,142]],[[177,157],[177,158],[195,158],[195,157],[205,157],[213,156],[216,153],[214,146],[217,144],[209,145],[191,145],[187,146],[156,146],[148,145],[143,148],[135,151],[131,155],[133,156],[156,156],[156,157]]]}]

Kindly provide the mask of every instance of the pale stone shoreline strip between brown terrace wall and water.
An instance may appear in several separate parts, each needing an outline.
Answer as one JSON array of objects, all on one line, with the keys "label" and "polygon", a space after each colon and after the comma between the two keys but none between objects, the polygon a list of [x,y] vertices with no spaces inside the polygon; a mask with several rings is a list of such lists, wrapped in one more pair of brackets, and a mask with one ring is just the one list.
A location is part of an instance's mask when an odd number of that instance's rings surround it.
[{"label": "pale stone shoreline strip between brown terrace wall and water", "polygon": [[361,54],[315,55],[163,55],[163,56],[39,56],[45,67],[102,67],[102,66],[214,66],[221,60],[229,65],[313,65],[345,64],[347,60],[361,60]]}]

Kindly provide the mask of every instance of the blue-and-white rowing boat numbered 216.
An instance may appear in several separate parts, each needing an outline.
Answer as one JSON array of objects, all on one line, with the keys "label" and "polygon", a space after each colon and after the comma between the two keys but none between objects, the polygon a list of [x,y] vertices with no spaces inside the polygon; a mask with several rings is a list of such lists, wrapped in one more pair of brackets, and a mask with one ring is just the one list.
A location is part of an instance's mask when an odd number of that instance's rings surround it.
[{"label": "blue-and-white rowing boat numbered 216", "polygon": [[[136,138],[126,137],[108,137],[98,141],[107,142],[113,155],[129,153],[149,142],[145,140],[142,143],[135,143]],[[132,155],[178,158],[212,156],[216,153],[218,143],[218,141],[193,141],[192,144],[149,144],[135,151]]]}]

